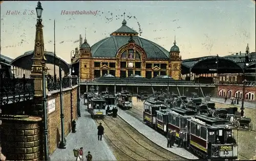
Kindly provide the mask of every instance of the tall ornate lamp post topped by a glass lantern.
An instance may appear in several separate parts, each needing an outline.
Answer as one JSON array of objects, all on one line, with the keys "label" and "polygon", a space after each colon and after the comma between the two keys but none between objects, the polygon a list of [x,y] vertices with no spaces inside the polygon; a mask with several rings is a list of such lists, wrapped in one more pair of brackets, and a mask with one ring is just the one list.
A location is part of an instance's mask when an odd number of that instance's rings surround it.
[{"label": "tall ornate lamp post topped by a glass lantern", "polygon": [[[50,160],[48,153],[48,126],[47,126],[47,89],[46,89],[46,58],[44,53],[44,37],[42,34],[42,6],[41,3],[37,3],[36,14],[36,35],[35,35],[35,47],[34,55],[32,58],[33,64],[31,67],[31,77],[34,78],[35,83],[35,105],[32,107],[31,112],[33,115],[43,116],[44,119],[44,160]],[[42,106],[40,105],[42,104]]]}]

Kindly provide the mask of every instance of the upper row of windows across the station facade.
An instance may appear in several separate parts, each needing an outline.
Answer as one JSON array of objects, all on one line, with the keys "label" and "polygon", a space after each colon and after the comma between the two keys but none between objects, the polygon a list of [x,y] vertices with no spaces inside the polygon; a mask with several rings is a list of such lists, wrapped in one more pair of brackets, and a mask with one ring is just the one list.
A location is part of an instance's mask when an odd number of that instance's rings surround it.
[{"label": "upper row of windows across the station facade", "polygon": [[[110,68],[116,68],[116,63],[108,63],[108,62],[102,62],[102,66],[106,65]],[[95,68],[99,68],[101,66],[100,62],[94,62],[94,67]],[[153,67],[159,67],[161,69],[166,69],[167,68],[167,64],[152,64],[152,63],[146,63],[146,69],[152,69]],[[84,68],[86,68],[87,65],[84,65]],[[137,68],[140,69],[141,68],[141,62],[120,62],[120,68]]]}]

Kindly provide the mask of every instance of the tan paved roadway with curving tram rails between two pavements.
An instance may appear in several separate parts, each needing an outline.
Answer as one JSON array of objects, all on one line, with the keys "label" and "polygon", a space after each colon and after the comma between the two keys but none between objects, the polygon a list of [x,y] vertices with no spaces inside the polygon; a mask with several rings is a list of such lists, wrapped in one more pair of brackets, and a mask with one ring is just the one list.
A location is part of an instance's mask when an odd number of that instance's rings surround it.
[{"label": "tan paved roadway with curving tram rails between two pavements", "polygon": [[156,145],[145,138],[141,133],[127,124],[119,116],[117,118],[105,117],[101,120],[105,127],[105,138],[118,152],[118,160],[183,160],[185,158],[176,155]]}]

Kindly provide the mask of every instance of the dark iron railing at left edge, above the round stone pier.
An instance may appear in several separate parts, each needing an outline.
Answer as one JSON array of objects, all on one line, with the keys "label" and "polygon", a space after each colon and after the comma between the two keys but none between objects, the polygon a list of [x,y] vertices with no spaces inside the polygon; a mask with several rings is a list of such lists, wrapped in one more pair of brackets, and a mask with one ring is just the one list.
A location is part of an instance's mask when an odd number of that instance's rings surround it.
[{"label": "dark iron railing at left edge, above the round stone pier", "polygon": [[29,100],[34,96],[34,79],[1,78],[0,105]]}]

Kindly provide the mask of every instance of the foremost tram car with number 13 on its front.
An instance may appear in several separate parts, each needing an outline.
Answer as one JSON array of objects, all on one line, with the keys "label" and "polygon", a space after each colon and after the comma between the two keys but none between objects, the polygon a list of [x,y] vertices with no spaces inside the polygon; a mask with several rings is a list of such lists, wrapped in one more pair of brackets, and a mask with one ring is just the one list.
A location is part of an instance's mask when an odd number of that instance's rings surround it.
[{"label": "foremost tram car with number 13 on its front", "polygon": [[[195,115],[187,120],[186,146],[205,159],[237,159],[238,128],[228,123],[228,120],[209,115]],[[228,133],[236,142],[227,143]]]}]

